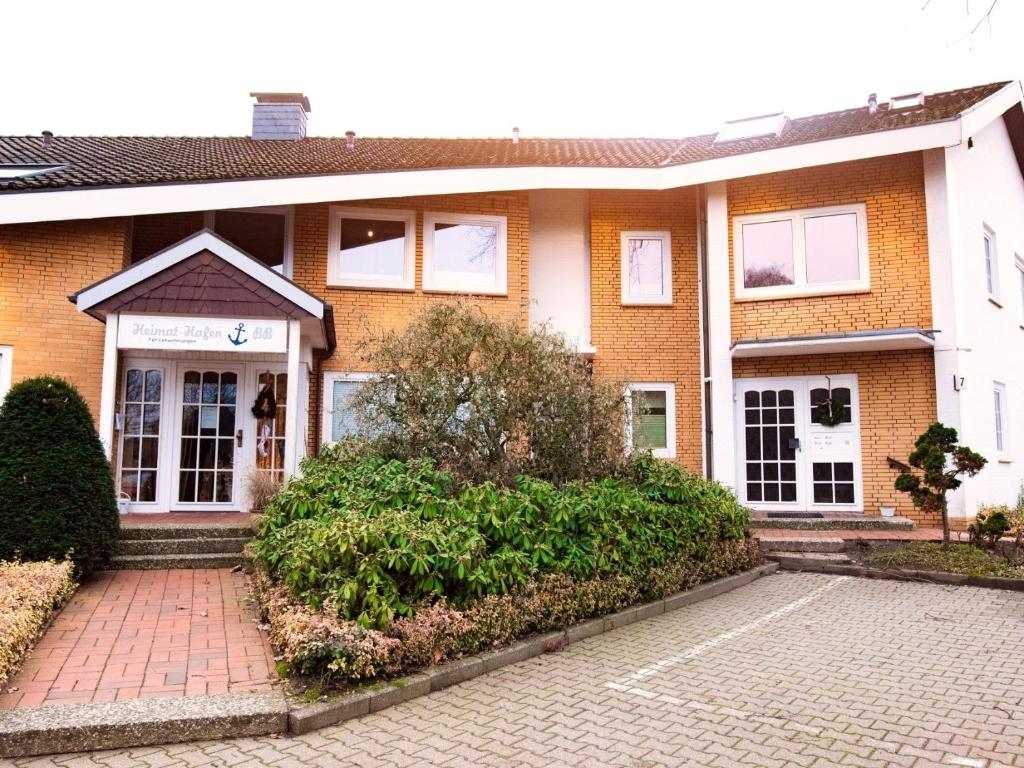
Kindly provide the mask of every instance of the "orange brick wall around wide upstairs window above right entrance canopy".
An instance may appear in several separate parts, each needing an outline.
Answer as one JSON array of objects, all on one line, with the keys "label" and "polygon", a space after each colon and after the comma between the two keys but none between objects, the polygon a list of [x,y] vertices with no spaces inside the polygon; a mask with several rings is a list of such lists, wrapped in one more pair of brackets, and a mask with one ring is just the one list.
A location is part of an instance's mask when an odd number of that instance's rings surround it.
[{"label": "orange brick wall around wide upstairs window above right entrance canopy", "polygon": [[[866,293],[739,302],[733,299],[734,340],[931,327],[920,153],[734,179],[729,181],[728,196],[730,254],[734,216],[864,203],[870,272]],[[732,263],[734,283],[735,254]]]}]

